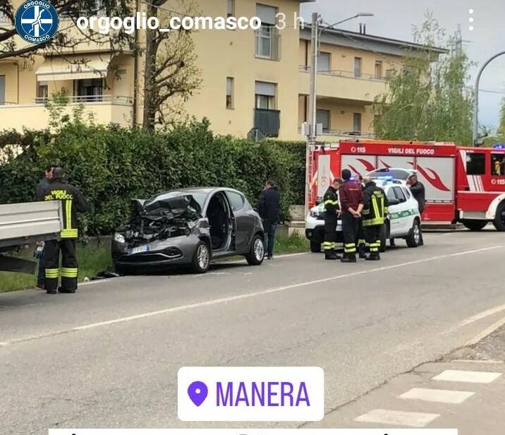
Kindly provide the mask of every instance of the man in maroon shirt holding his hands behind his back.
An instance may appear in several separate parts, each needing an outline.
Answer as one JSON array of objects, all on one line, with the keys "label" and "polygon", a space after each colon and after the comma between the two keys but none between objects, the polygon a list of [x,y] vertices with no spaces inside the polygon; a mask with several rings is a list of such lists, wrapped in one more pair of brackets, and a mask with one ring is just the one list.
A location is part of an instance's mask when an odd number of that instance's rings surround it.
[{"label": "man in maroon shirt holding his hands behind his back", "polygon": [[342,263],[356,262],[356,238],[363,209],[363,191],[359,183],[351,179],[351,171],[343,169],[343,184],[339,189],[342,216],[343,257]]}]

